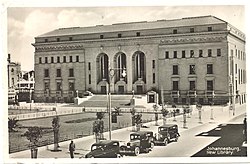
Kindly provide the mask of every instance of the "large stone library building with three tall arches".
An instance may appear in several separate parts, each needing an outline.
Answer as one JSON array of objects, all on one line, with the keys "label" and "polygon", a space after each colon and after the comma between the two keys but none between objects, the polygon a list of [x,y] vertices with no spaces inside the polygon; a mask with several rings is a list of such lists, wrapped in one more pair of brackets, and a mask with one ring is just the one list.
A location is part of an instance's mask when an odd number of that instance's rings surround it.
[{"label": "large stone library building with three tall arches", "polygon": [[35,101],[110,87],[162,91],[169,103],[246,102],[245,35],[214,16],[60,28],[32,45]]}]

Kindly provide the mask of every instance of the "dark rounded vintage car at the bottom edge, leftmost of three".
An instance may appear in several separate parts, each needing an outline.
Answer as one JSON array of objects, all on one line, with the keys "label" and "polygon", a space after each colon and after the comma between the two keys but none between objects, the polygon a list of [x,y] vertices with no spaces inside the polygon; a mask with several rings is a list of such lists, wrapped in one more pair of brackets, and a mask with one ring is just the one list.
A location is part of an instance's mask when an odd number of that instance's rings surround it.
[{"label": "dark rounded vintage car at the bottom edge, leftmost of three", "polygon": [[91,151],[85,158],[119,158],[120,143],[114,140],[101,140],[91,146]]}]

